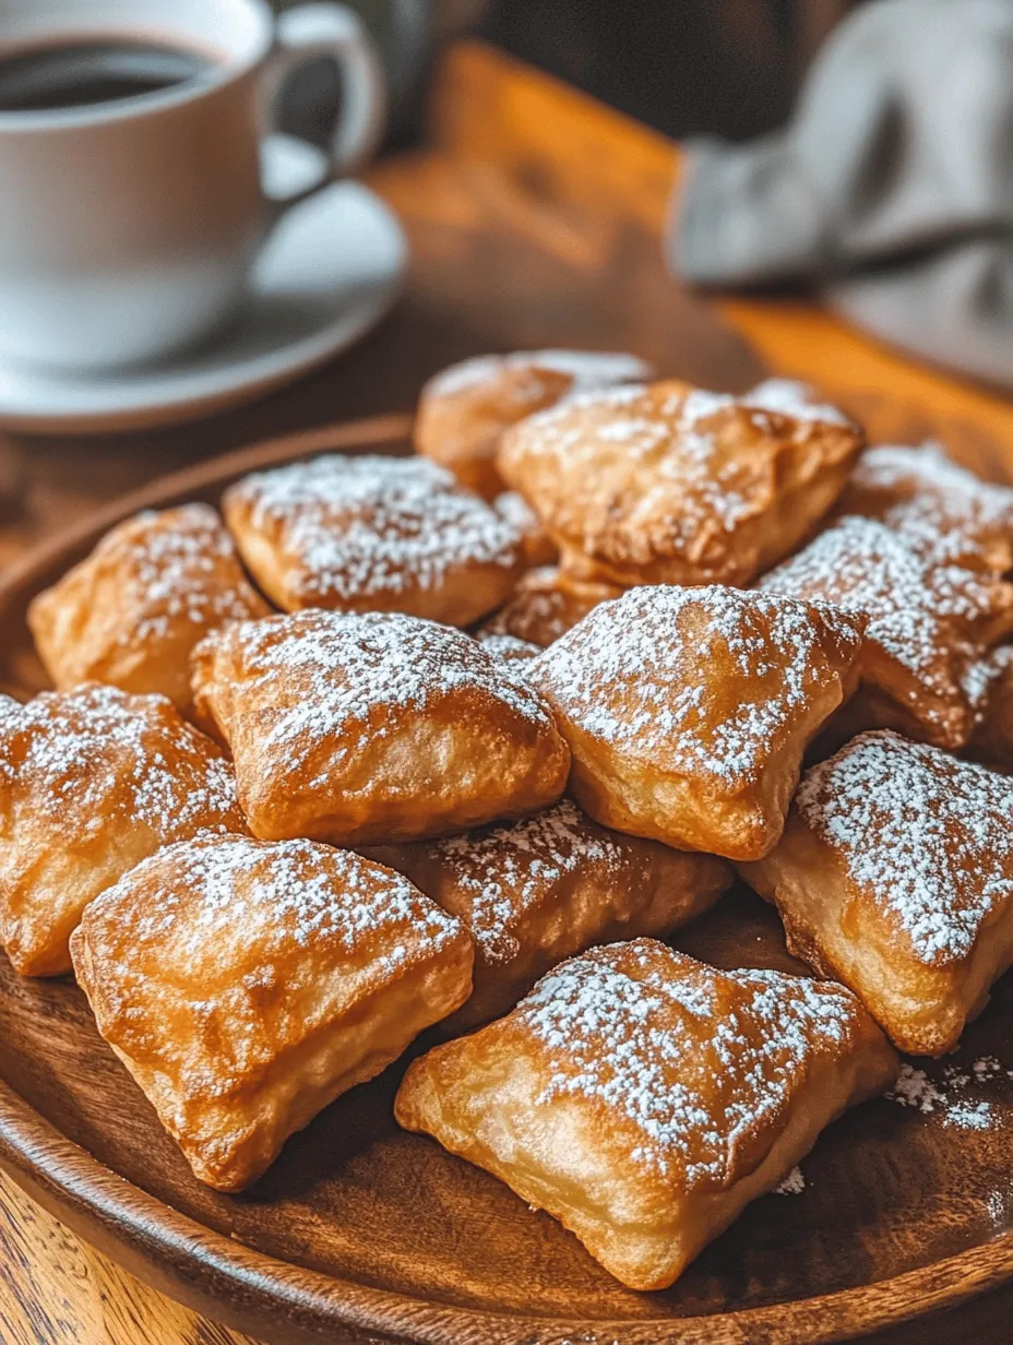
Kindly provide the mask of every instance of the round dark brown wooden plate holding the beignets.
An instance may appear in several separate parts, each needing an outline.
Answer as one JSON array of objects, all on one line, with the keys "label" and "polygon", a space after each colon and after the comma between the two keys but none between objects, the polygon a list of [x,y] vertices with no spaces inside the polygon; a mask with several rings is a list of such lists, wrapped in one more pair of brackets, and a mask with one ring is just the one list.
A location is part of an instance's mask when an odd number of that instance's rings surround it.
[{"label": "round dark brown wooden plate holding the beignets", "polygon": [[[117,519],[214,500],[242,472],[313,449],[400,452],[406,432],[402,417],[363,421],[234,453],[65,534],[0,584],[0,685],[22,697],[43,685],[26,604]],[[745,890],[678,942],[718,964],[798,966]],[[4,958],[0,1165],[155,1287],[278,1345],[842,1340],[1013,1275],[1010,1029],[1008,978],[954,1057],[966,1073],[975,1057],[1004,1064],[963,1085],[963,1126],[942,1104],[922,1112],[884,1099],[853,1111],[802,1163],[802,1194],[756,1201],[663,1294],[624,1290],[492,1177],[398,1132],[400,1067],[330,1107],[248,1194],[206,1190],[73,982],[22,981]],[[952,1091],[942,1064],[928,1068]],[[987,1124],[967,1128],[974,1115]]]}]

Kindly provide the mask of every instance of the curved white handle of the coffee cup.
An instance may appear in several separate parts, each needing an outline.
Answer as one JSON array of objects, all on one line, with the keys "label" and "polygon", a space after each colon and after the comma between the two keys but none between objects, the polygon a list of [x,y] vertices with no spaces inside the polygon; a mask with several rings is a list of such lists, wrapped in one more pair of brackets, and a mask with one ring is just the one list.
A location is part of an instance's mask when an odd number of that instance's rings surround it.
[{"label": "curved white handle of the coffee cup", "polygon": [[330,168],[323,179],[303,191],[273,199],[281,213],[369,161],[383,134],[387,87],[379,51],[359,16],[347,5],[296,5],[280,15],[276,32],[276,47],[264,75],[268,134],[278,130],[285,86],[308,62],[320,56],[335,59],[343,86],[342,110],[330,145]]}]

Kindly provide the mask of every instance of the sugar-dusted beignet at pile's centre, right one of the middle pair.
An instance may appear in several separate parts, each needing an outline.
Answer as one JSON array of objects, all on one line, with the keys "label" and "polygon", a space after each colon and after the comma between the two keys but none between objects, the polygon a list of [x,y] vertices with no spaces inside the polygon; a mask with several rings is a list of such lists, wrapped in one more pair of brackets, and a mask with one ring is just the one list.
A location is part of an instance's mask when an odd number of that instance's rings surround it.
[{"label": "sugar-dusted beignet at pile's centre, right one of the middle pair", "polygon": [[597,822],[678,850],[759,858],[802,756],[854,690],[864,619],[728,588],[639,588],[527,664]]}]

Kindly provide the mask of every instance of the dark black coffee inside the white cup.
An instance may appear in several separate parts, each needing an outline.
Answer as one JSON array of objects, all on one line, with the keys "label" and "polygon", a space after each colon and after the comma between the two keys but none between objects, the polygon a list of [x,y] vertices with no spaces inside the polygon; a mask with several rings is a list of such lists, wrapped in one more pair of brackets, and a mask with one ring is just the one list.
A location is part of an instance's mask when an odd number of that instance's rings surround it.
[{"label": "dark black coffee inside the white cup", "polygon": [[214,61],[186,47],[89,42],[0,58],[0,112],[87,108],[207,77]]}]

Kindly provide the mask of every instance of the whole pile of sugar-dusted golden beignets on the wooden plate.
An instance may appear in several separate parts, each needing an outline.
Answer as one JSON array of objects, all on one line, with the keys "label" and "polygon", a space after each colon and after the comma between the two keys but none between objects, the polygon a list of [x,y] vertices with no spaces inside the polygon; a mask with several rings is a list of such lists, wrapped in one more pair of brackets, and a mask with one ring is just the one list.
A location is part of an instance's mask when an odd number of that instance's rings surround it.
[{"label": "whole pile of sugar-dusted golden beignets on the wooden plate", "polygon": [[[432,1028],[401,1124],[663,1287],[1013,963],[1013,490],[648,377],[465,363],[421,456],[140,515],[32,605],[0,942],[200,1181]],[[729,859],[819,979],[655,942]]]}]

